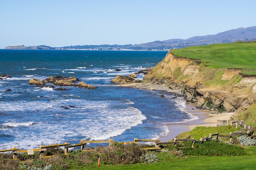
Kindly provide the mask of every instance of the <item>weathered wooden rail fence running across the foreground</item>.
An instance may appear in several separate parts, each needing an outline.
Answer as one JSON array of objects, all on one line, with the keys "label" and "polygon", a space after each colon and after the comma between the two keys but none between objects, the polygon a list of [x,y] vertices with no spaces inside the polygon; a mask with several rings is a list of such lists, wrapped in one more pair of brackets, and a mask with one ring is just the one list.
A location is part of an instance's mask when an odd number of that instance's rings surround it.
[{"label": "weathered wooden rail fence running across the foreground", "polygon": [[[209,134],[209,136],[204,136],[204,138],[201,138],[199,141],[197,141],[196,139],[176,139],[174,138],[173,141],[170,141],[170,142],[161,142],[160,140],[158,139],[151,139],[151,140],[148,140],[148,139],[137,139],[137,138],[134,138],[134,141],[133,142],[116,142],[116,143],[120,143],[120,144],[140,144],[141,142],[150,142],[150,143],[153,143],[155,145],[155,147],[153,148],[141,148],[143,150],[155,150],[155,151],[161,151],[161,148],[159,147],[159,145],[163,145],[163,144],[178,144],[179,142],[184,142],[184,141],[192,141],[192,143],[204,143],[205,141],[210,141],[210,140],[213,140],[214,139],[214,136],[215,136],[215,141],[219,141],[219,138],[220,137],[228,137],[230,138],[230,141],[229,142],[225,142],[225,143],[234,143],[234,140],[233,140],[233,136],[238,136],[238,135],[248,135],[248,136],[251,136],[253,135],[253,132],[254,131],[247,131],[247,133],[243,133],[243,132],[235,132],[235,133],[232,133],[230,132],[229,135],[220,135],[219,133],[214,133],[214,134]],[[90,150],[85,150],[84,146],[87,144],[87,143],[108,143],[109,145],[115,143],[114,140],[112,139],[109,139],[109,140],[99,140],[99,141],[85,141],[85,140],[81,140],[80,143],[78,144],[73,144],[73,145],[70,145],[70,143],[63,143],[63,144],[53,144],[53,145],[47,145],[47,146],[42,146],[40,145],[40,148],[38,149],[27,149],[27,150],[20,150],[19,148],[12,148],[12,149],[5,149],[5,150],[0,150],[0,152],[12,152],[13,154],[13,159],[12,160],[19,160],[18,159],[18,154],[19,153],[25,153],[27,152],[28,155],[33,155],[34,152],[39,152],[39,157],[41,158],[47,158],[47,157],[52,157],[52,156],[44,156],[44,153],[45,151],[47,151],[47,149],[49,148],[56,148],[56,147],[61,147],[61,146],[64,146],[64,153],[65,155],[68,154],[68,148],[75,148],[75,147],[78,147],[80,146],[81,148],[81,151],[90,151]],[[180,149],[185,149],[184,147],[180,147]]]}]

